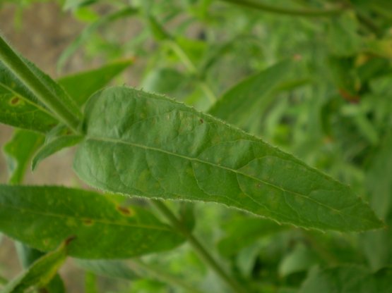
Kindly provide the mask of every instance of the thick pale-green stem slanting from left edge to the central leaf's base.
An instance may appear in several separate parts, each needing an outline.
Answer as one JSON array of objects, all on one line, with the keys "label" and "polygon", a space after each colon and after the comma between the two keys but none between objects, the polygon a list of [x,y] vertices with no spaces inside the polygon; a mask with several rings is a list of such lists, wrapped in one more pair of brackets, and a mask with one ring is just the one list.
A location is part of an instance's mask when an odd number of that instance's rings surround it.
[{"label": "thick pale-green stem slanting from left edge to the central leaf's base", "polygon": [[66,124],[76,133],[79,133],[78,126],[80,119],[78,113],[72,113],[62,103],[60,99],[48,89],[41,80],[30,70],[28,65],[16,54],[15,51],[0,36],[0,60],[3,62],[18,79],[23,82],[30,91],[37,96],[50,111],[52,111],[62,123]]}]

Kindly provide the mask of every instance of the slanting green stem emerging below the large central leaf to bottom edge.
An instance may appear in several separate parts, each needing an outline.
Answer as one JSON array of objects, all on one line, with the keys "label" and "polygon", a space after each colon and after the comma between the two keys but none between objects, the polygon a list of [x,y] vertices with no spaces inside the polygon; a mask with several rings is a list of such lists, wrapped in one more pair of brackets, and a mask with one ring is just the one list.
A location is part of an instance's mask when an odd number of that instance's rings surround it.
[{"label": "slanting green stem emerging below the large central leaf to bottom edge", "polygon": [[188,239],[189,244],[194,248],[194,250],[198,253],[198,255],[203,258],[204,261],[212,268],[215,273],[222,279],[224,280],[227,285],[229,285],[233,292],[238,292],[238,293],[244,293],[246,292],[245,289],[243,289],[234,278],[231,278],[225,270],[223,270],[220,265],[215,261],[213,256],[211,256],[208,251],[203,247],[203,245],[192,235],[192,233],[184,227],[184,225],[177,219],[176,216],[170,211],[167,206],[159,200],[153,200],[152,201],[153,205],[158,208],[158,210],[169,220],[169,222],[172,224],[172,227],[180,232],[186,239]]}]

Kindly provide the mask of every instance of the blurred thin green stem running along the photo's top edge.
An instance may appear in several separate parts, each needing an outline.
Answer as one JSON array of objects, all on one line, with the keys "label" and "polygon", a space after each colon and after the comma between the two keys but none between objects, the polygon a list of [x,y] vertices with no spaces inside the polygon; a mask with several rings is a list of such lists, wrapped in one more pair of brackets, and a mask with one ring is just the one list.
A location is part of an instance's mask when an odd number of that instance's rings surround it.
[{"label": "blurred thin green stem running along the photo's top edge", "polygon": [[346,8],[333,8],[333,9],[288,9],[276,6],[270,6],[268,4],[262,4],[260,2],[254,2],[252,0],[221,0],[225,2],[230,2],[232,4],[237,4],[249,8],[256,8],[262,11],[292,15],[292,16],[304,16],[304,17],[324,17],[333,16],[342,13]]}]

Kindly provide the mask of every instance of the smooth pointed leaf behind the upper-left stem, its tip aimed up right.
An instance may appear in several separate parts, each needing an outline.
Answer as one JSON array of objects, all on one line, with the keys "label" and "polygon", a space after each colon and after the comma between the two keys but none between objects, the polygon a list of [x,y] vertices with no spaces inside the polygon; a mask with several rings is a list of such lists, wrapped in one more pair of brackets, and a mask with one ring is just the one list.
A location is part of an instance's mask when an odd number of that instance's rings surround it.
[{"label": "smooth pointed leaf behind the upper-left stem, its tip aimed up right", "polygon": [[58,82],[76,101],[76,104],[82,106],[92,94],[97,92],[98,89],[102,89],[132,63],[133,60],[131,59],[109,63],[97,69],[66,75],[61,77]]}]

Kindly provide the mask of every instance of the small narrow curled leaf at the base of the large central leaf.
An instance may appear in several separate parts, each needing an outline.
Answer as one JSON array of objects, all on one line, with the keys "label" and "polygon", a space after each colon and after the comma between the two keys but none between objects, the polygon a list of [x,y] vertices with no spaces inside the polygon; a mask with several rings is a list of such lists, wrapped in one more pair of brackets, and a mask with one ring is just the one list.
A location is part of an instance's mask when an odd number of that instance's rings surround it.
[{"label": "small narrow curled leaf at the base of the large central leaf", "polygon": [[63,137],[57,137],[51,142],[44,144],[44,146],[42,146],[34,158],[32,158],[31,169],[35,170],[35,168],[37,168],[38,164],[44,160],[44,158],[57,153],[57,151],[61,151],[61,149],[74,146],[75,144],[81,142],[82,139],[83,137],[80,135],[66,135]]}]

